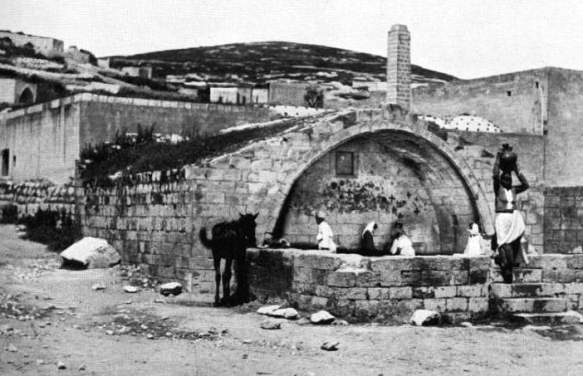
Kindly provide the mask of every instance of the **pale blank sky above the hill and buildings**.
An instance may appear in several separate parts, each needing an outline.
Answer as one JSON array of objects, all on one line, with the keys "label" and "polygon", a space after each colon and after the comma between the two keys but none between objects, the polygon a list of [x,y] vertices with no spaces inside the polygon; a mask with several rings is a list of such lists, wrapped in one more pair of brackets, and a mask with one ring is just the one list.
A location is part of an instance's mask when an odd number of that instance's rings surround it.
[{"label": "pale blank sky above the hill and buildings", "polygon": [[578,0],[0,0],[0,14],[98,57],[273,40],[384,56],[405,24],[412,63],[460,78],[583,70]]}]

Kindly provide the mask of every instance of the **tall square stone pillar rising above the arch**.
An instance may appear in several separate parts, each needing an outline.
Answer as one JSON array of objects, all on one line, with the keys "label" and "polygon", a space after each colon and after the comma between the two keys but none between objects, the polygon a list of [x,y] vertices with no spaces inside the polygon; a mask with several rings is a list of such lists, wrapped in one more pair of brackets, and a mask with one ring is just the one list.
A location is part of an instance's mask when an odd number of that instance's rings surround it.
[{"label": "tall square stone pillar rising above the arch", "polygon": [[411,107],[411,34],[405,25],[393,25],[389,30],[387,103],[407,112]]}]

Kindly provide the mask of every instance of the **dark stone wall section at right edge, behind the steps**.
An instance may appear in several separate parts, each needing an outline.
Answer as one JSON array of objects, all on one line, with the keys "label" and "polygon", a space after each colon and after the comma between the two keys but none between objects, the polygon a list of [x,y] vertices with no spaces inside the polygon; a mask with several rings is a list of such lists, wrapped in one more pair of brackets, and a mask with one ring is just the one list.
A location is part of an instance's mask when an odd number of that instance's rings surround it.
[{"label": "dark stone wall section at right edge, behind the steps", "polygon": [[554,187],[545,194],[544,248],[570,253],[583,246],[583,188]]}]

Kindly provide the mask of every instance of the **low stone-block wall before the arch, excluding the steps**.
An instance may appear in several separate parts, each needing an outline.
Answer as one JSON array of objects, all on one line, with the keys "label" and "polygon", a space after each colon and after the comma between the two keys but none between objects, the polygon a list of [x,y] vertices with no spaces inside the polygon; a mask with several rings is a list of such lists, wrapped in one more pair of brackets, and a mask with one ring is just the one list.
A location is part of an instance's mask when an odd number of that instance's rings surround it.
[{"label": "low stone-block wall before the arch, excluding the steps", "polygon": [[301,309],[355,321],[407,322],[415,309],[453,321],[488,312],[487,257],[361,257],[321,251],[251,249],[252,291]]}]

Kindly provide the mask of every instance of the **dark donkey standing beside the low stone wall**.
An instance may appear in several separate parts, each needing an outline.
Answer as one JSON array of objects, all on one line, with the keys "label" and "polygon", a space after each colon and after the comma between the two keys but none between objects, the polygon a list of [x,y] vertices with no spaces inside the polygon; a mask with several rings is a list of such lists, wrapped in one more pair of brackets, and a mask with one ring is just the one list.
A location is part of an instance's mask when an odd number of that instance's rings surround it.
[{"label": "dark donkey standing beside the low stone wall", "polygon": [[[222,222],[213,226],[212,239],[207,238],[206,229],[200,229],[202,244],[213,252],[215,267],[215,305],[235,305],[249,301],[249,282],[247,280],[247,247],[255,247],[255,219],[257,214],[240,214],[239,219]],[[223,272],[223,298],[219,298],[221,284],[221,259],[225,259]],[[235,261],[237,291],[230,296],[231,265]]]}]

